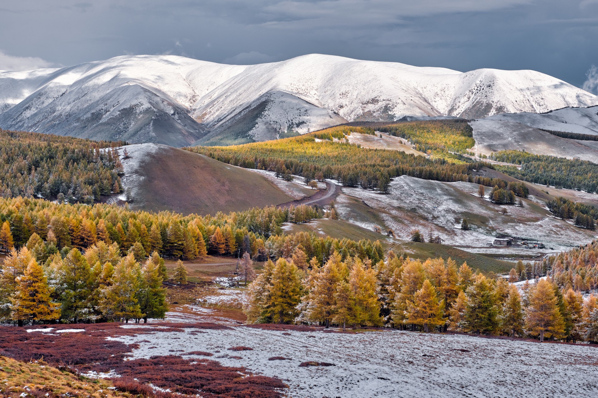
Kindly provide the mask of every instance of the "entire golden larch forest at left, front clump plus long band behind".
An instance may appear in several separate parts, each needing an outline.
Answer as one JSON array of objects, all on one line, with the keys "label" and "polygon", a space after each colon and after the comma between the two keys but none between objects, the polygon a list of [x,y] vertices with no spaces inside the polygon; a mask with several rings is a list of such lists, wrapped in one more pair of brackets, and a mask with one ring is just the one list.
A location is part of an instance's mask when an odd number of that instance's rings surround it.
[{"label": "entire golden larch forest at left, front clump plus long band behind", "polygon": [[321,210],[267,207],[215,216],[148,213],[96,204],[0,199],[0,318],[23,322],[100,322],[164,316],[163,257],[208,253],[278,259],[301,252],[380,261],[379,242],[282,234],[283,222],[306,222]]}]

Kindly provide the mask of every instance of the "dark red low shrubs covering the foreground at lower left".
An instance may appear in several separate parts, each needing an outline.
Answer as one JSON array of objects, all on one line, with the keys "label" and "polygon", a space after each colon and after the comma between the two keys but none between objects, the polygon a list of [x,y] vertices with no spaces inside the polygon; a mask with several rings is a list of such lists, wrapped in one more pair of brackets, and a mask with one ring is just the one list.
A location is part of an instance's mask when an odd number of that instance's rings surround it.
[{"label": "dark red low shrubs covering the foreground at lower left", "polygon": [[[114,384],[121,391],[146,398],[177,398],[179,394],[223,398],[279,398],[279,389],[285,388],[277,378],[252,376],[244,368],[222,366],[208,359],[182,359],[180,356],[156,356],[151,359],[127,360],[125,357],[138,348],[138,344],[124,344],[106,340],[108,336],[132,336],[144,333],[184,332],[179,326],[196,329],[229,329],[227,326],[210,323],[160,324],[168,328],[149,327],[123,328],[118,323],[68,324],[39,326],[39,329],[54,327],[51,332],[30,332],[23,327],[0,327],[0,356],[28,362],[43,358],[51,365],[72,372],[107,372],[114,369],[121,378]],[[85,329],[84,332],[54,333],[60,329]],[[143,340],[140,342],[144,342]],[[244,351],[249,347],[232,347]],[[192,351],[189,355],[212,356],[203,351]],[[137,380],[134,380],[134,379]],[[170,389],[171,393],[154,391],[153,385]],[[44,397],[45,398],[45,397]]]}]

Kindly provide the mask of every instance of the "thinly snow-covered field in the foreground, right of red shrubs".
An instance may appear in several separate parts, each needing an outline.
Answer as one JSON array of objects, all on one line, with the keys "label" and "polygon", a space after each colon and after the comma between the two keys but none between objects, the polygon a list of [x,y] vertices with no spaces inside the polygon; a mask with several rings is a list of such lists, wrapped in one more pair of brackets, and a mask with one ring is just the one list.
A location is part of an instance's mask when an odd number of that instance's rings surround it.
[{"label": "thinly snow-covered field in the foreground, right of red shrubs", "polygon": [[[598,394],[598,348],[465,335],[380,331],[324,333],[185,329],[121,336],[133,358],[208,351],[225,366],[277,376],[289,397],[590,397]],[[193,334],[191,334],[193,333]],[[286,333],[286,334],[283,334]],[[145,342],[149,341],[149,342]],[[251,351],[228,351],[243,345]],[[154,348],[150,348],[154,347]],[[240,359],[232,358],[241,357]],[[282,356],[287,360],[269,360]],[[300,367],[301,362],[335,366]]]}]

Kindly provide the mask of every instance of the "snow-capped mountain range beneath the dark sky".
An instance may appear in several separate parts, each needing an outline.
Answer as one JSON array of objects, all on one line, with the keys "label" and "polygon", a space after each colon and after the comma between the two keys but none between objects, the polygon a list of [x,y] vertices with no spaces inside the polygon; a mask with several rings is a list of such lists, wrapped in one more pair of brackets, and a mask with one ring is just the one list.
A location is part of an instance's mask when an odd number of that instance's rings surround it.
[{"label": "snow-capped mountain range beneath the dark sky", "polygon": [[260,65],[122,56],[0,72],[0,127],[169,145],[240,143],[359,120],[592,106],[598,97],[534,71],[457,72],[310,54]]}]

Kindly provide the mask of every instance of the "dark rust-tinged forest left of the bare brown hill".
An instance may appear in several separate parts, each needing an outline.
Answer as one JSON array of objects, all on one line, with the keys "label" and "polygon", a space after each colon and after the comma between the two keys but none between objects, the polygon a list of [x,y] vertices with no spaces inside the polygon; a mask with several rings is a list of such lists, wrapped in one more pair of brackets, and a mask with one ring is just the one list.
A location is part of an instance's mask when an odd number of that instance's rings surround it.
[{"label": "dark rust-tinged forest left of the bare brown hill", "polygon": [[116,147],[125,144],[0,129],[0,197],[91,204],[120,192]]}]

